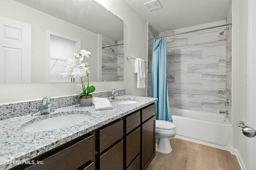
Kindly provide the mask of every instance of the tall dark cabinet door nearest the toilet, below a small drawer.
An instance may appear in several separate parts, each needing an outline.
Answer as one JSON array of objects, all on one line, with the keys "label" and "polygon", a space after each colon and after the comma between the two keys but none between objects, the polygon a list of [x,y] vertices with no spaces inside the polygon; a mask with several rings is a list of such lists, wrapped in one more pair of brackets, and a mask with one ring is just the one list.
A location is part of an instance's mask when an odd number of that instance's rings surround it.
[{"label": "tall dark cabinet door nearest the toilet, below a small drawer", "polygon": [[142,170],[156,155],[156,116],[142,124]]}]

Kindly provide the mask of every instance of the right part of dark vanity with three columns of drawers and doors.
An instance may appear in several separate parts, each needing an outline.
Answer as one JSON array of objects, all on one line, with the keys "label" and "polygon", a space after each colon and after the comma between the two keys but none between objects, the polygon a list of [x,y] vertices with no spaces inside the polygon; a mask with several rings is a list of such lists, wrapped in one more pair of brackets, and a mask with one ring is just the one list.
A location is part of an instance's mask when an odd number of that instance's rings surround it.
[{"label": "right part of dark vanity with three columns of drawers and doors", "polygon": [[156,155],[155,112],[152,104],[100,128],[96,170],[145,170]]}]

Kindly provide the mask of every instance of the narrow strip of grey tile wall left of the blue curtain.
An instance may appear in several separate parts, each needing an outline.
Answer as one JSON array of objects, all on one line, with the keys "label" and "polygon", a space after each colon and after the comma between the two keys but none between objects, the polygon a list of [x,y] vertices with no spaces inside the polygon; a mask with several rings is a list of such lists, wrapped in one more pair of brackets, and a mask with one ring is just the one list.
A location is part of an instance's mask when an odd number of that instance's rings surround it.
[{"label": "narrow strip of grey tile wall left of the blue curtain", "polygon": [[[148,24],[148,39],[158,37],[158,32]],[[148,92],[147,96],[151,97],[151,67],[152,67],[152,52],[154,40],[148,40]]]}]

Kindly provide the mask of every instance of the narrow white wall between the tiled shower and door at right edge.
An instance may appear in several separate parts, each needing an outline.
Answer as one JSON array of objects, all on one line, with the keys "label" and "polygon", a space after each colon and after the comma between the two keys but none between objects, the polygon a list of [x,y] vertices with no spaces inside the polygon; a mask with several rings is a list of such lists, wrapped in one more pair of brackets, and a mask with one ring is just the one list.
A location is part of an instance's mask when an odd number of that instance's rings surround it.
[{"label": "narrow white wall between the tiled shower and door at right edge", "polygon": [[248,39],[248,0],[233,1],[233,148],[237,149],[247,168],[247,137],[236,121],[247,121],[247,39]]}]

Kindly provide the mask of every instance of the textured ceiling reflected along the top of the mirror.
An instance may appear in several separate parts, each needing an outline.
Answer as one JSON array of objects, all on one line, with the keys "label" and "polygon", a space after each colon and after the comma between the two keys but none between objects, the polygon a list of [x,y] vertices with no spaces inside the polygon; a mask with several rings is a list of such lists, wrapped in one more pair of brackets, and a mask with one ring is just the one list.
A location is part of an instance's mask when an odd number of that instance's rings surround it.
[{"label": "textured ceiling reflected along the top of the mirror", "polygon": [[94,0],[16,1],[96,34],[116,41],[124,40],[124,22]]}]

